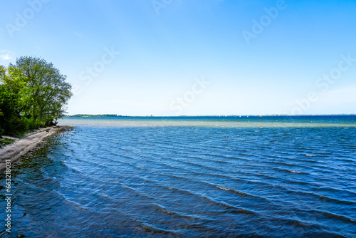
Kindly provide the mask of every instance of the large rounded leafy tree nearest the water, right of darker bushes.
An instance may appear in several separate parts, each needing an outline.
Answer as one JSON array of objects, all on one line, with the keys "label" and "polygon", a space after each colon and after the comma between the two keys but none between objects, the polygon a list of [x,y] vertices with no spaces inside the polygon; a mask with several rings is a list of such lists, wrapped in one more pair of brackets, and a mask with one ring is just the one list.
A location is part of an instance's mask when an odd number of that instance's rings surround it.
[{"label": "large rounded leafy tree nearest the water, right of darker bushes", "polygon": [[38,125],[51,125],[61,118],[72,95],[71,86],[52,63],[23,56],[17,58],[15,65],[10,64],[9,71],[28,86],[23,94],[23,114],[31,115]]}]

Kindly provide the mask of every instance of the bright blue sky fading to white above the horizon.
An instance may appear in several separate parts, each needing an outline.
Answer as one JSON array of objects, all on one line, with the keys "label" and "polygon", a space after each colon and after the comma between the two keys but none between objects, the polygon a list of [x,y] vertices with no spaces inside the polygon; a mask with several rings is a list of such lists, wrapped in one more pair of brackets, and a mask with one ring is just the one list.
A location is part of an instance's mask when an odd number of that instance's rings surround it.
[{"label": "bright blue sky fading to white above the horizon", "polygon": [[68,113],[356,113],[356,1],[1,1],[0,65],[66,74]]}]

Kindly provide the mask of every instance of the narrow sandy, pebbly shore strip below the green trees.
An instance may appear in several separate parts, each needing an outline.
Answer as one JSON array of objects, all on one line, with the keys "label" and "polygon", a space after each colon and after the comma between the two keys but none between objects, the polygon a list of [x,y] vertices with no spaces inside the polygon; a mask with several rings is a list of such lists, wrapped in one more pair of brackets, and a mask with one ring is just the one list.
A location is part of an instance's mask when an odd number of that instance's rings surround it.
[{"label": "narrow sandy, pebbly shore strip below the green trees", "polygon": [[[43,147],[43,143],[46,142],[48,138],[58,135],[57,129],[62,133],[70,128],[68,125],[55,125],[47,128],[40,128],[37,131],[26,135],[23,138],[11,138],[15,139],[14,143],[5,145],[0,148],[0,171],[5,169],[5,160],[11,160],[11,165],[17,165],[21,162],[21,159]],[[7,136],[4,136],[9,138]]]}]

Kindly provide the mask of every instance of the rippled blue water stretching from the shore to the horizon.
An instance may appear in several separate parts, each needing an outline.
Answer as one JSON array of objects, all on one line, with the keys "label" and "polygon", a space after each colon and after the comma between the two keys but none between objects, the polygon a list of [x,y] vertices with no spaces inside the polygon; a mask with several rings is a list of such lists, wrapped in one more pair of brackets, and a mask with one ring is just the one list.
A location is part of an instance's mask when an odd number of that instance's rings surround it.
[{"label": "rippled blue water stretching from the shore to the horizon", "polygon": [[355,237],[356,116],[60,123],[13,178],[11,236]]}]

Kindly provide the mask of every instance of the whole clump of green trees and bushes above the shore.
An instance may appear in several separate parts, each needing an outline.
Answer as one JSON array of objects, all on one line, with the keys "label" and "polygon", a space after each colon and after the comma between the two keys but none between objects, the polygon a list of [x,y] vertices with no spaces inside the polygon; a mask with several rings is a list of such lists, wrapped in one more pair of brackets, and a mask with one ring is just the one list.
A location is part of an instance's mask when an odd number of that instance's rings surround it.
[{"label": "whole clump of green trees and bushes above the shore", "polygon": [[9,68],[0,66],[0,133],[54,125],[72,96],[66,76],[41,58],[20,57]]}]

